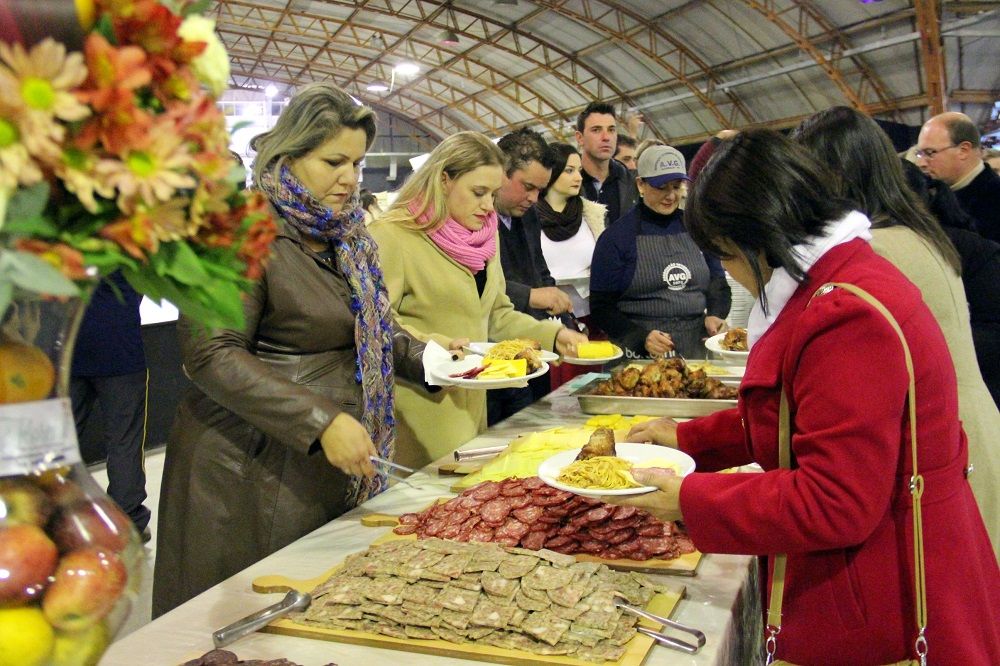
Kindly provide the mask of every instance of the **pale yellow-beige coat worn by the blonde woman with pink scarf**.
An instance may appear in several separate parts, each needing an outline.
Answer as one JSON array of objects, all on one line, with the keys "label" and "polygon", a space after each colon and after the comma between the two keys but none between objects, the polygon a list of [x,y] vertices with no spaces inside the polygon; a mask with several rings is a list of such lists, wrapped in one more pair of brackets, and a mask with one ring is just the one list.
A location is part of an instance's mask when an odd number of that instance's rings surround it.
[{"label": "pale yellow-beige coat worn by the blonde woman with pink scarf", "polygon": [[[482,297],[466,267],[422,231],[376,221],[370,227],[396,320],[415,337],[442,346],[532,338],[552,350],[561,325],[517,312],[506,295],[499,256],[486,264]],[[396,460],[421,467],[486,429],[486,392],[450,388],[434,394],[396,388]]]}]

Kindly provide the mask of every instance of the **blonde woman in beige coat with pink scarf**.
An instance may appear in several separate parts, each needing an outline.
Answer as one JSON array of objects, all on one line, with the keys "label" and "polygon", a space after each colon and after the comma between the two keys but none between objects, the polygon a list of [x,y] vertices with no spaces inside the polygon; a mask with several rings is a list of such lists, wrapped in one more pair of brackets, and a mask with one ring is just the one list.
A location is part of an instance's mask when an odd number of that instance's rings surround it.
[{"label": "blonde woman in beige coat with pink scarf", "polygon": [[[493,197],[504,156],[476,132],[454,134],[431,153],[371,226],[396,318],[422,340],[447,346],[531,338],[573,356],[586,337],[514,310],[497,255]],[[486,428],[482,390],[397,391],[396,459],[420,467]]]}]

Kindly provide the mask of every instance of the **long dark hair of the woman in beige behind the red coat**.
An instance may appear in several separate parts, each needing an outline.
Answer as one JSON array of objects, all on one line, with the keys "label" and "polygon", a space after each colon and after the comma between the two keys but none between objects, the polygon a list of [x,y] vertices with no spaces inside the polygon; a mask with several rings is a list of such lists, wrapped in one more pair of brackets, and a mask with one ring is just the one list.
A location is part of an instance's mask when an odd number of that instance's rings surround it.
[{"label": "long dark hair of the woman in beige behind the red coat", "polygon": [[872,227],[908,227],[956,272],[961,270],[955,246],[907,185],[892,141],[869,116],[846,106],[830,107],[802,121],[792,139],[838,175],[839,194],[854,202]]}]

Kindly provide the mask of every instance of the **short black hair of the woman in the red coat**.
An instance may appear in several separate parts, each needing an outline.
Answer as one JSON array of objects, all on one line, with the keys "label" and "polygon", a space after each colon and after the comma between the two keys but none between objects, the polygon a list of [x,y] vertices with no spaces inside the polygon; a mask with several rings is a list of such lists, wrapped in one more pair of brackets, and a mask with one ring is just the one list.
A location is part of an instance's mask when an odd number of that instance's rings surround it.
[{"label": "short black hair of the woman in the red coat", "polygon": [[684,223],[702,250],[728,259],[738,256],[735,247],[743,255],[767,312],[760,258],[805,279],[794,246],[821,235],[827,223],[852,208],[832,182],[827,168],[802,146],[773,130],[747,130],[724,141],[702,169],[688,195]]}]

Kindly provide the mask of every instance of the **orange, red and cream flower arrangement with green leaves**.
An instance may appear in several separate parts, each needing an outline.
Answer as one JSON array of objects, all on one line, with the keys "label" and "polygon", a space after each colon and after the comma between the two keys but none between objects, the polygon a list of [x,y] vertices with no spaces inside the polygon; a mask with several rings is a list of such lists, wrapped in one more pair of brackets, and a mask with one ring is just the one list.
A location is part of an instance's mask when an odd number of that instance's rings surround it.
[{"label": "orange, red and cream flower arrangement with green leaves", "polygon": [[242,326],[276,226],[229,152],[207,4],[95,0],[82,53],[0,41],[0,315],[15,289],[73,295],[93,267]]}]

